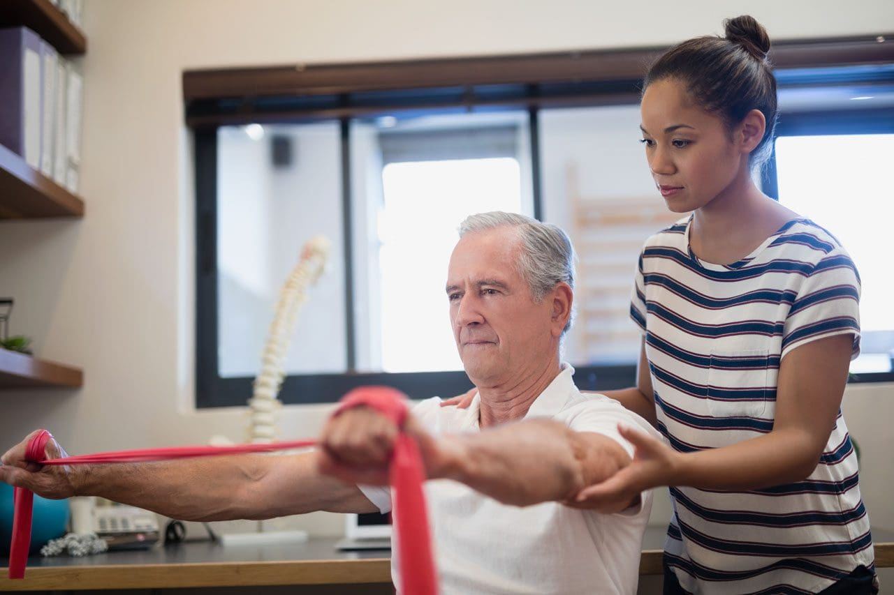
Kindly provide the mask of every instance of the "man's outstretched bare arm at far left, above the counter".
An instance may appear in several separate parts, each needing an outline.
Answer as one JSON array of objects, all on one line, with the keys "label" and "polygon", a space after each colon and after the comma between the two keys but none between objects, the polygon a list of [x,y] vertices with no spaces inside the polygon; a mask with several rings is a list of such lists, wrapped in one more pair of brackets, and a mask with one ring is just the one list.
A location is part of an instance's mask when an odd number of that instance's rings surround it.
[{"label": "man's outstretched bare arm at far left, above the counter", "polygon": [[[101,496],[188,521],[262,519],[316,510],[377,510],[357,486],[319,473],[315,452],[40,466],[25,460],[28,440],[30,437],[3,456],[0,482],[46,498]],[[55,440],[50,440],[46,456],[65,454]]]}]

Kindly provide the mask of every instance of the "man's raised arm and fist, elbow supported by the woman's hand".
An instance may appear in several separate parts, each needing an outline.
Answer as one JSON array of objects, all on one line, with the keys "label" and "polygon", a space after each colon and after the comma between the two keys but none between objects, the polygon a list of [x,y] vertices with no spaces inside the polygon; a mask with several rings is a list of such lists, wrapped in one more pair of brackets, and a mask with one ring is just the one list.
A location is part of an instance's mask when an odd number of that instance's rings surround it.
[{"label": "man's raised arm and fist, elbow supported by the woman's hand", "polygon": [[[574,432],[552,420],[507,423],[477,434],[432,436],[409,416],[429,479],[462,482],[493,499],[515,506],[562,501],[586,486],[608,479],[629,465],[616,440],[595,432]],[[330,420],[321,448],[326,473],[345,481],[384,484],[394,424],[372,409],[358,407]],[[603,503],[600,512],[618,512],[637,498]]]}]

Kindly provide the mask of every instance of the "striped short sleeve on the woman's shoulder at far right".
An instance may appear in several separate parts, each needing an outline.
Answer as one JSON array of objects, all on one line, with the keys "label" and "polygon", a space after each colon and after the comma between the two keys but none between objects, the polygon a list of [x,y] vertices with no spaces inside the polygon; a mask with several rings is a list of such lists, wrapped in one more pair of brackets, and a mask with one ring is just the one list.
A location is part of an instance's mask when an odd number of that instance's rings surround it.
[{"label": "striped short sleeve on the woman's shoulder at far right", "polygon": [[814,266],[789,309],[781,357],[817,339],[853,334],[851,359],[860,353],[860,275],[843,250]]}]

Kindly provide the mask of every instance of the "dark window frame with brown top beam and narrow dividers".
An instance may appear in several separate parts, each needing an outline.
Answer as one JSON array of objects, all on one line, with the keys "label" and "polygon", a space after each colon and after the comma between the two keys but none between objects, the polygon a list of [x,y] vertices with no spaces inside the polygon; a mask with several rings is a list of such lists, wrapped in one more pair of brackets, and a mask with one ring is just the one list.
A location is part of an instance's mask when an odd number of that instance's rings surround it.
[{"label": "dark window frame with brown top beam and narrow dividers", "polygon": [[[894,38],[894,35],[888,36]],[[466,373],[358,373],[356,367],[350,121],[401,110],[468,111],[527,109],[532,155],[534,215],[542,219],[541,107],[624,105],[639,99],[639,81],[666,48],[632,48],[515,56],[485,56],[394,63],[283,66],[187,71],[183,75],[186,122],[193,131],[196,189],[196,406],[244,406],[250,377],[221,378],[218,368],[217,130],[252,122],[318,122],[341,125],[342,225],[345,266],[347,367],[345,373],[291,374],[279,398],[286,404],[332,403],[348,390],[389,384],[414,398],[451,397],[471,388]],[[894,43],[876,36],[777,42],[777,69],[799,72],[795,84],[822,77],[816,69],[835,64],[894,63]],[[798,71],[797,69],[801,69]],[[778,78],[780,70],[777,70]],[[781,80],[781,79],[780,79]],[[877,80],[872,79],[871,80]],[[532,82],[534,81],[534,82]],[[815,81],[814,81],[815,82]],[[788,119],[790,116],[787,115]],[[783,126],[779,130],[786,130]],[[779,132],[778,132],[779,134]],[[775,161],[767,183],[775,188]],[[582,390],[632,386],[635,364],[587,365],[576,369]],[[881,377],[880,377],[881,376]],[[860,374],[852,381],[890,381],[894,373]]]}]

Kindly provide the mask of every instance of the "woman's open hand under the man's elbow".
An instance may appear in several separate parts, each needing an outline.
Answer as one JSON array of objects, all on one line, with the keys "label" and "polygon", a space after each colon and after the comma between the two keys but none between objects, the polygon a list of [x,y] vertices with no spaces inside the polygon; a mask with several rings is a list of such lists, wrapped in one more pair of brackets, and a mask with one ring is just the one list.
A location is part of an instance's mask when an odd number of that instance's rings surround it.
[{"label": "woman's open hand under the man's elbow", "polygon": [[679,482],[682,455],[661,440],[624,426],[618,432],[634,447],[630,465],[620,469],[604,482],[580,490],[566,504],[599,512],[620,512],[636,502],[643,490]]}]

